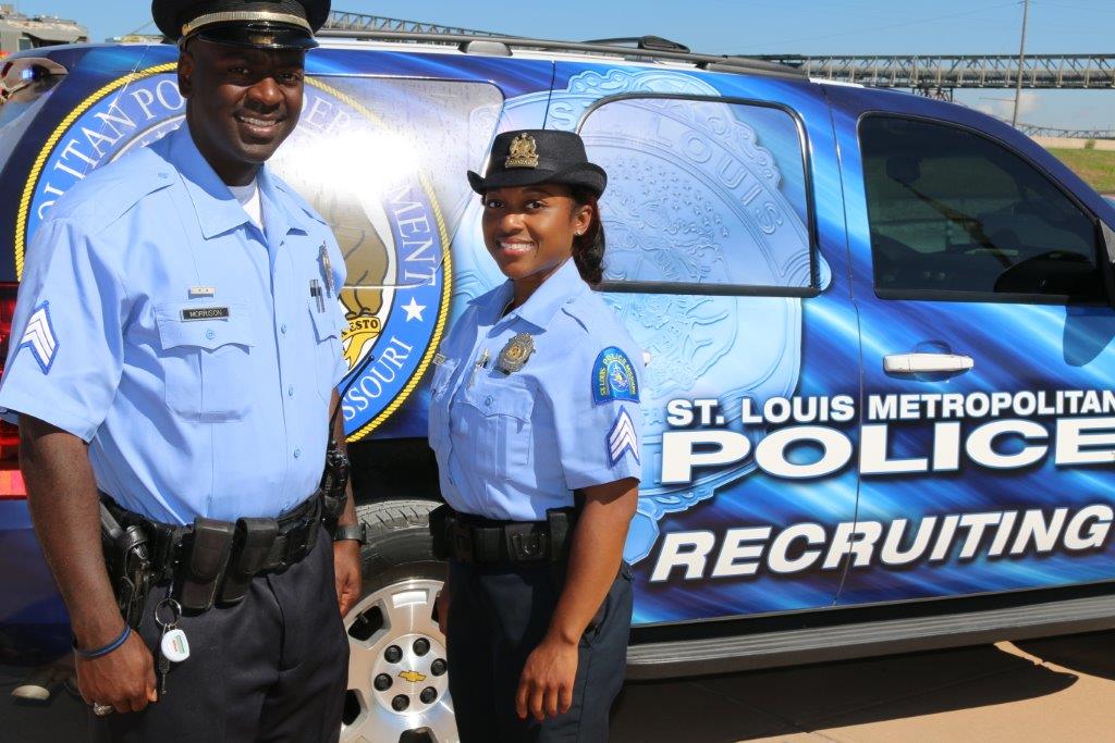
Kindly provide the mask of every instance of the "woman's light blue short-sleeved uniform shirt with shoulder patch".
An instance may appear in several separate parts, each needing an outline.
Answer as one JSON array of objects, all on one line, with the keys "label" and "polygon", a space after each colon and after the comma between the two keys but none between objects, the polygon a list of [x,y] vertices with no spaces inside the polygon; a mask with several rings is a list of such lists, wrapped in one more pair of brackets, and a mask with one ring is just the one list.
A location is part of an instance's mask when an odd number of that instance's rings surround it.
[{"label": "woman's light blue short-sleeved uniform shirt with shoulder patch", "polygon": [[[429,440],[455,510],[539,521],[573,490],[640,477],[642,353],[566,261],[516,310],[506,282],[473,300],[442,344]],[[517,334],[534,353],[500,370]]]}]

